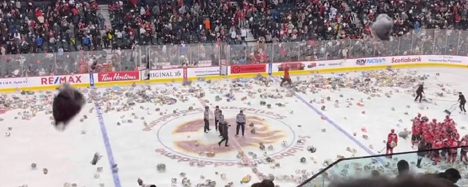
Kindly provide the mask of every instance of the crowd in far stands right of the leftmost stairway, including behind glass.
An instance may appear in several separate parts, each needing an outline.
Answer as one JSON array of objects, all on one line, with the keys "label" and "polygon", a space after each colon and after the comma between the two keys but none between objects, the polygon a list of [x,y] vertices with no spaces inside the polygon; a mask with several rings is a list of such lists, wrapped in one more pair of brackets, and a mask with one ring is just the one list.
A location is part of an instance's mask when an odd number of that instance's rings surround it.
[{"label": "crowd in far stands right of the leftmost stairway, including behind glass", "polygon": [[[434,29],[467,29],[467,10],[461,1],[442,0],[129,0],[110,5],[113,32],[122,33],[125,49],[159,44],[149,50],[154,51],[149,60],[171,65],[180,65],[181,56],[196,56],[188,60],[195,63],[211,60],[210,55],[239,64],[465,55],[468,33]],[[399,41],[372,40],[370,24],[380,13],[394,19],[393,36],[402,36]],[[249,33],[258,43],[241,45]],[[213,43],[207,50],[211,54],[200,55],[194,43]],[[179,54],[178,44],[189,44],[190,54]],[[229,57],[224,44],[231,45]]]}]

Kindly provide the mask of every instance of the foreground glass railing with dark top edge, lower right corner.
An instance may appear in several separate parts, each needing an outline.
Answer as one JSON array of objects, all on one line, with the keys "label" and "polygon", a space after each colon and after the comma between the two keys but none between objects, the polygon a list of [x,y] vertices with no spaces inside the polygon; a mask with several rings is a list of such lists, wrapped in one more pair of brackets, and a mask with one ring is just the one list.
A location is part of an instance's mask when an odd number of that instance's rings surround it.
[{"label": "foreground glass railing with dark top edge, lower right corner", "polygon": [[[467,186],[468,178],[465,176],[468,176],[468,170],[465,169],[466,164],[461,161],[460,151],[462,148],[468,148],[468,146],[452,148],[456,149],[458,153],[454,158],[448,156],[448,152],[450,151],[448,149],[342,158],[314,174],[298,187],[328,187],[334,180],[343,181],[350,178],[364,178],[372,175],[393,177],[398,174],[396,165],[400,160],[406,160],[409,163],[410,173],[414,174],[442,173],[448,168],[455,168],[460,172],[462,177],[457,185]],[[435,156],[438,152],[439,157]],[[444,152],[445,156],[443,156]],[[419,165],[417,165],[418,158],[421,158]]]}]

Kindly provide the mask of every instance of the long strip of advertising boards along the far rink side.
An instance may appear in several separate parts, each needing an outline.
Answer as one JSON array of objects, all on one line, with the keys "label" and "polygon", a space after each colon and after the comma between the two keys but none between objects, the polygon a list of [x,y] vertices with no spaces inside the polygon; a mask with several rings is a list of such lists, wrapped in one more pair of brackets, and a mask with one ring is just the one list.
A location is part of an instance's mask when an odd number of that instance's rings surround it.
[{"label": "long strip of advertising boards along the far rink side", "polygon": [[[374,58],[358,58],[358,59],[338,59],[338,60],[317,60],[317,61],[300,61],[300,62],[281,62],[281,63],[264,63],[250,65],[225,65],[228,74],[241,73],[263,73],[268,72],[269,75],[273,72],[281,72],[286,66],[292,71],[300,70],[315,70],[321,68],[337,68],[337,67],[359,67],[363,65],[400,65],[400,64],[427,64],[427,65],[444,65],[451,64],[451,67],[468,67],[468,57],[450,56],[450,55],[411,55],[411,56],[391,56],[391,57],[374,57]],[[221,66],[222,67],[222,66]],[[56,75],[42,77],[15,77],[0,79],[0,89],[17,88],[17,87],[40,87],[59,85],[63,83],[70,84],[90,84],[95,85],[99,82],[113,81],[137,81],[140,80],[142,74],[146,71],[129,71],[129,72],[101,72],[94,74],[72,74],[72,75]],[[173,79],[183,77],[203,77],[220,74],[220,66],[206,67],[189,67],[185,71],[183,68],[178,69],[162,69],[147,71],[151,79]]]}]

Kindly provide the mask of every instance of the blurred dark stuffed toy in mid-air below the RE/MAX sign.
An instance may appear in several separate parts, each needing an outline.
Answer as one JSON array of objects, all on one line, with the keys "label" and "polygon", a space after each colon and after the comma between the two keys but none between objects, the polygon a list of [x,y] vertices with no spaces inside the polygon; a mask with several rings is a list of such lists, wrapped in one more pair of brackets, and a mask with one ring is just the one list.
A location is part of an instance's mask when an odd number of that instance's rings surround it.
[{"label": "blurred dark stuffed toy in mid-air below the RE/MAX sign", "polygon": [[52,103],[55,127],[57,129],[65,129],[68,122],[80,113],[84,103],[83,95],[78,90],[66,84],[61,86],[59,94],[55,96]]}]

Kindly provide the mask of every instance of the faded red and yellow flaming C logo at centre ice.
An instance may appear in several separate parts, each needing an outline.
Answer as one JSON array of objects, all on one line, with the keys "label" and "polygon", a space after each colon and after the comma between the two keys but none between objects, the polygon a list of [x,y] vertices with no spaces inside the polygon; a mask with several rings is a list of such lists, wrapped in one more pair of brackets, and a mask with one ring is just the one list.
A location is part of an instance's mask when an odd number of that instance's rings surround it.
[{"label": "faded red and yellow flaming C logo at centre ice", "polygon": [[[226,119],[228,124],[231,125],[229,127],[229,147],[224,147],[218,145],[219,139],[212,140],[212,142],[200,142],[196,139],[190,139],[188,140],[177,140],[174,141],[174,145],[176,145],[179,149],[182,149],[183,151],[188,151],[188,152],[194,152],[198,153],[200,151],[211,151],[214,153],[223,153],[223,152],[228,152],[228,151],[235,151],[240,150],[242,147],[246,146],[258,146],[260,142],[263,142],[265,144],[271,144],[278,142],[281,138],[285,137],[285,134],[281,130],[271,130],[271,127],[269,124],[267,124],[267,121],[262,120],[261,118],[257,116],[247,116],[247,122],[245,126],[245,137],[240,137],[240,138],[235,138],[235,133],[236,133],[236,125],[237,123],[235,122],[235,118],[228,118]],[[249,124],[253,122],[254,126],[250,127]],[[190,133],[190,132],[197,132],[200,133],[200,131],[203,132],[203,127],[204,127],[204,121],[203,119],[199,120],[193,120],[190,122],[185,122],[174,129],[173,134],[179,134],[179,133]],[[213,121],[210,121],[210,128],[211,132],[213,133],[214,125]],[[255,129],[255,133],[251,133],[250,131],[252,129]],[[219,132],[214,132],[216,135],[219,135]],[[239,134],[241,135],[241,129],[239,129]],[[237,143],[234,142],[234,139]]]}]

